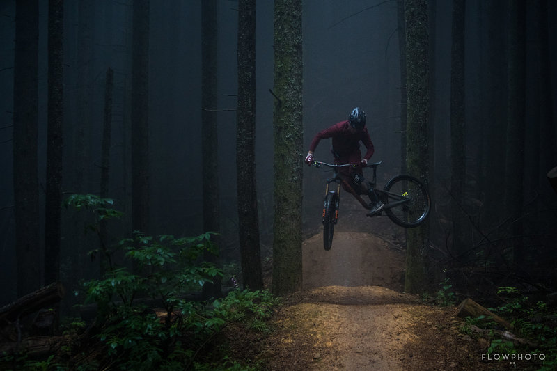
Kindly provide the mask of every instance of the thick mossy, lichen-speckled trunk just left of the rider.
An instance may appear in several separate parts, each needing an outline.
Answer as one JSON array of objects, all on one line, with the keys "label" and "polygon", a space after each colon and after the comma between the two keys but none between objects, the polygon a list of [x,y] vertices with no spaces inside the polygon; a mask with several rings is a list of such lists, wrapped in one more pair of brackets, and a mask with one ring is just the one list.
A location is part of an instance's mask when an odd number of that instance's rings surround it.
[{"label": "thick mossy, lichen-speckled trunk just left of the rider", "polygon": [[274,2],[274,240],[276,294],[301,289],[301,0]]}]

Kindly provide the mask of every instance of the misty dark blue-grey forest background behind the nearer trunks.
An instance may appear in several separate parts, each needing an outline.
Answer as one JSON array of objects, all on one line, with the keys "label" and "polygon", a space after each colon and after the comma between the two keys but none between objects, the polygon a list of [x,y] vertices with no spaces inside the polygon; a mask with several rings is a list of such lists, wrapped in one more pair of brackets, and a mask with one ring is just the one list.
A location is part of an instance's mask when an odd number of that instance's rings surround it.
[{"label": "misty dark blue-grey forest background behind the nearer trunks", "polygon": [[[16,285],[13,132],[15,1],[0,2],[0,305],[21,295]],[[44,259],[47,157],[47,15],[38,13],[38,180],[41,236],[34,255]],[[125,217],[110,226],[112,242],[132,231],[132,3],[65,1],[63,13],[63,198],[101,189],[102,132],[107,70],[113,70],[107,195]],[[456,1],[455,3],[460,3]],[[465,1],[463,44],[456,52],[453,1],[429,1],[430,115],[428,186],[432,194],[430,259],[463,290],[512,280],[556,289],[557,195],[546,173],[557,166],[557,3],[524,2],[524,53],[510,61],[508,1]],[[521,3],[520,1],[518,3]],[[147,2],[148,4],[148,2]],[[151,235],[198,235],[203,230],[201,1],[151,1],[148,24],[149,227]],[[304,150],[320,129],[347,119],[354,106],[368,117],[382,160],[379,182],[400,173],[402,161],[398,1],[304,1]],[[218,179],[221,256],[240,261],[236,205],[237,1],[217,1]],[[256,61],[256,178],[262,260],[272,258],[273,233],[273,2],[259,1]],[[458,54],[458,51],[462,52]],[[515,55],[515,54],[512,54]],[[452,58],[452,56],[457,56]],[[462,76],[451,74],[458,63]],[[518,72],[517,72],[518,71]],[[509,99],[517,77],[519,96]],[[522,80],[520,80],[522,79]],[[451,84],[451,81],[453,83]],[[458,82],[460,81],[460,82]],[[455,92],[464,93],[462,147],[455,151]],[[513,83],[514,84],[514,83]],[[453,104],[451,104],[453,97]],[[514,98],[513,98],[514,99]],[[451,111],[451,106],[453,111]],[[524,111],[517,113],[514,108]],[[521,131],[509,128],[519,120]],[[451,130],[451,127],[453,128]],[[453,143],[451,145],[451,143]],[[452,148],[452,150],[451,150]],[[462,156],[461,156],[462,155]],[[329,159],[329,143],[316,151]],[[463,162],[455,168],[455,158]],[[17,164],[16,164],[17,166]],[[460,174],[460,177],[456,177]],[[21,174],[20,174],[21,175]],[[456,179],[456,181],[455,181]],[[17,185],[16,185],[17,187]],[[304,168],[304,235],[317,232],[322,174]],[[518,189],[511,194],[509,189]],[[516,207],[515,207],[516,206]],[[61,278],[68,291],[99,274],[87,251],[97,239],[84,220],[62,210]],[[437,274],[437,273],[436,273]],[[37,272],[36,287],[47,284]],[[439,282],[439,281],[438,281]],[[478,283],[480,284],[478,286]]]}]

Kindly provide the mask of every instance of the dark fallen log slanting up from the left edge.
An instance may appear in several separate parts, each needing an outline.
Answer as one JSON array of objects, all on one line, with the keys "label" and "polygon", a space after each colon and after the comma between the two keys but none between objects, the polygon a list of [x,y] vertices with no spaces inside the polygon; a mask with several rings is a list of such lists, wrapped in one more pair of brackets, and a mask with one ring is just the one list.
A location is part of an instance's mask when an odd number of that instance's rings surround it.
[{"label": "dark fallen log slanting up from the left edge", "polygon": [[0,308],[0,324],[13,322],[37,310],[52,306],[64,297],[64,287],[59,282],[51,283],[36,292],[31,292]]}]

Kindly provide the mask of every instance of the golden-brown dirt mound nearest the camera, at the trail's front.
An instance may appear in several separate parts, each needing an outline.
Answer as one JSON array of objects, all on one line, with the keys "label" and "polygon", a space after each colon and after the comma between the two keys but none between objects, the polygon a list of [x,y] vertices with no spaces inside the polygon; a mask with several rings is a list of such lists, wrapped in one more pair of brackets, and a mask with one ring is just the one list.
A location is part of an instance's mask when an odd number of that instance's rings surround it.
[{"label": "golden-brown dirt mound nearest the camera, at the trail's front", "polygon": [[455,308],[384,287],[319,287],[288,298],[256,358],[267,370],[478,370]]}]

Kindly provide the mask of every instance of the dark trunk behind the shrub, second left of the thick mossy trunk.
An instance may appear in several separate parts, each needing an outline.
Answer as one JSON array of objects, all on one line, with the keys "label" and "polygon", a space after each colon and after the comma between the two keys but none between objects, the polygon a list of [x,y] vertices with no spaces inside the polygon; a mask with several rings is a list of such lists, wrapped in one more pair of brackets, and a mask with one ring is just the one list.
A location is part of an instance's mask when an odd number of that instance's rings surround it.
[{"label": "dark trunk behind the shrub, second left of the thick mossy trunk", "polygon": [[[201,156],[203,158],[203,231],[219,232],[219,168],[217,136],[217,1],[201,4]],[[218,242],[216,237],[212,237]],[[218,246],[218,244],[217,244]],[[205,252],[203,258],[219,265],[219,256]],[[203,285],[204,297],[221,296],[221,282]]]}]

